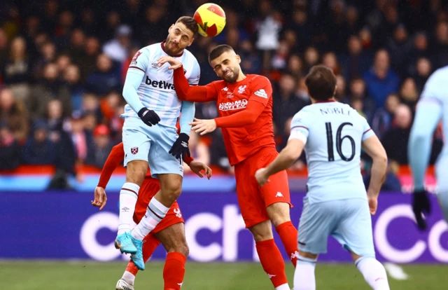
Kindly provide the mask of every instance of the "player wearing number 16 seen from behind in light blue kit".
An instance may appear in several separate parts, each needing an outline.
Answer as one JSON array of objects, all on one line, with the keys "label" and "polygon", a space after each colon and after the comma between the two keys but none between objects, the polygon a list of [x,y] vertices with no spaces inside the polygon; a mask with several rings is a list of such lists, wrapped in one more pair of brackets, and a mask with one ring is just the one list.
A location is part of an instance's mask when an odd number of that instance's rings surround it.
[{"label": "player wearing number 16 seen from behind in light blue kit", "polygon": [[[269,186],[272,174],[290,167],[303,149],[306,153],[309,175],[294,289],[316,289],[314,267],[318,254],[327,251],[328,235],[350,251],[372,289],[389,289],[386,270],[375,258],[370,220],[386,176],[386,151],[365,118],[351,106],[335,102],[336,78],[331,69],[311,68],[305,83],[312,104],[293,117],[285,149],[255,174],[262,188]],[[373,159],[367,194],[359,166],[361,146]]]}]

